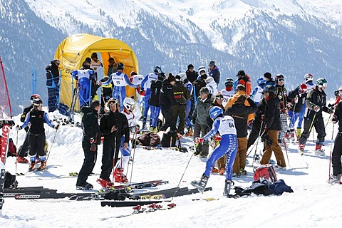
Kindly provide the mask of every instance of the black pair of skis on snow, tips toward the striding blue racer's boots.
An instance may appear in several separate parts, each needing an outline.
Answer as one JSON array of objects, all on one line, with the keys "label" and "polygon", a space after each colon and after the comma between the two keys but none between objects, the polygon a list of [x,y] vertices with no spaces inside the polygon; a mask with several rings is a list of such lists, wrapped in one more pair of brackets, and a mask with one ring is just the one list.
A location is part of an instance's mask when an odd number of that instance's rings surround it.
[{"label": "black pair of skis on snow, tips toward the striding blue racer's boots", "polygon": [[[203,192],[207,192],[212,190],[212,187],[207,187],[204,189]],[[130,196],[130,200],[125,201],[102,201],[101,206],[110,206],[110,207],[134,207],[137,205],[147,205],[147,204],[157,204],[161,202],[168,202],[168,198],[172,197],[180,197],[183,195],[192,195],[199,193],[199,190],[197,188],[189,190],[187,187],[183,188],[170,188],[167,190],[160,190],[157,192],[147,192],[142,194],[135,194]],[[157,200],[155,199],[157,198]],[[132,200],[132,199],[140,199],[140,200]],[[152,199],[152,200],[151,200]]]}]

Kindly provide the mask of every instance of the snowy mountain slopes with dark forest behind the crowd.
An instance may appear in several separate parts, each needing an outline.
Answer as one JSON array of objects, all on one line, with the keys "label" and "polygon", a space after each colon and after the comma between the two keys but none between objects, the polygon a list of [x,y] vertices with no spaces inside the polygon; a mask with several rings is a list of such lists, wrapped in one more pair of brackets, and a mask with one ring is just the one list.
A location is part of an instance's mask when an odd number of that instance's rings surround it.
[{"label": "snowy mountain slopes with dark forest behind the crowd", "polygon": [[[44,67],[58,43],[73,33],[125,41],[135,51],[142,74],[155,65],[176,73],[189,63],[197,68],[215,60],[221,81],[235,79],[243,68],[254,85],[266,71],[282,73],[289,89],[301,83],[305,73],[327,78],[328,96],[342,83],[336,77],[342,72],[338,0],[9,0],[1,1],[0,9],[1,28],[11,25],[11,30],[0,31],[0,54],[4,63],[6,57],[10,62],[6,75],[9,84],[15,84],[10,86],[12,100],[27,98],[21,90],[30,88],[31,67],[44,83]],[[18,72],[25,80],[10,79]],[[43,87],[38,93],[46,98]]]}]

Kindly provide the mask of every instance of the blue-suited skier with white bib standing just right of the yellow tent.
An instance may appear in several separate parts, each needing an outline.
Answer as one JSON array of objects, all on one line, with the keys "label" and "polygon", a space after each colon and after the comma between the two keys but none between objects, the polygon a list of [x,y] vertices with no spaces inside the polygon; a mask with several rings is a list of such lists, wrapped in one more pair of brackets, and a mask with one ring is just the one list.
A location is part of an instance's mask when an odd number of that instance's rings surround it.
[{"label": "blue-suited skier with white bib standing just right of the yellow tent", "polygon": [[158,73],[162,73],[162,68],[160,66],[156,66],[153,73],[149,73],[145,76],[145,78],[142,80],[140,88],[142,90],[145,90],[145,97],[144,97],[144,113],[142,115],[142,128],[146,128],[146,122],[147,122],[147,113],[150,108],[150,104],[148,103],[148,100],[151,96],[151,83],[152,81],[155,81],[158,79]]}]

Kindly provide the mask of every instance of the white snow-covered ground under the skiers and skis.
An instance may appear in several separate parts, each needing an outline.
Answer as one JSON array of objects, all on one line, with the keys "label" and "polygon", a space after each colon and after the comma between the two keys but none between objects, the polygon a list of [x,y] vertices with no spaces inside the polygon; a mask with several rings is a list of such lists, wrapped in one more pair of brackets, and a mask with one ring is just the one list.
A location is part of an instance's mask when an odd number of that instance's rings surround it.
[{"label": "white snow-covered ground under the skiers and skis", "polygon": [[[19,123],[19,116],[14,120]],[[326,120],[328,115],[325,115],[325,122]],[[342,186],[329,185],[327,182],[333,124],[328,123],[326,130],[324,146],[326,157],[314,155],[315,144],[312,134],[303,157],[297,152],[297,145],[289,145],[287,170],[277,172],[277,175],[294,190],[291,194],[224,198],[222,197],[224,176],[214,174],[209,178],[207,185],[213,188],[211,192],[175,197],[172,200],[177,204],[175,209],[134,214],[119,219],[110,217],[130,214],[133,209],[101,207],[98,201],[6,198],[0,217],[0,227],[340,227]],[[46,138],[50,146],[55,133],[56,130],[46,126]],[[336,133],[337,126],[334,130],[334,138]],[[19,145],[24,141],[24,134],[24,130],[19,132]],[[11,131],[11,138],[16,143],[15,130]],[[58,178],[80,170],[83,162],[81,138],[80,128],[61,126],[48,158],[48,170],[18,176],[19,187],[43,186],[56,189],[58,192],[81,192],[76,191],[76,177]],[[185,138],[183,141],[185,145],[191,145],[190,138]],[[259,150],[261,144],[258,146],[258,152]],[[98,161],[93,170],[96,174],[100,173],[101,154],[102,145],[99,147]],[[254,154],[254,150],[251,154]],[[137,149],[132,180],[133,182],[158,179],[169,181],[167,185],[150,190],[176,187],[190,158],[190,165],[180,187],[192,188],[190,182],[199,179],[202,175],[205,160],[192,157],[191,152]],[[248,160],[248,175],[234,177],[237,186],[252,185],[252,156],[249,156]],[[9,157],[6,162],[6,170],[12,174],[16,172],[14,161],[14,157]],[[27,172],[27,170],[27,164],[18,164],[17,172]],[[93,192],[100,188],[100,185],[95,182],[97,178],[98,176],[88,178],[88,181],[95,186]],[[219,199],[211,202],[192,201],[199,197]]]}]

